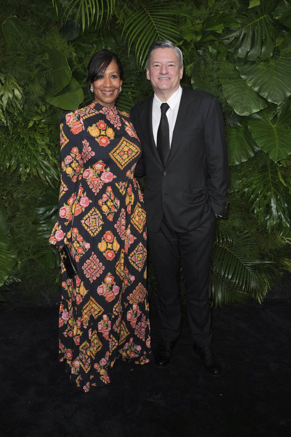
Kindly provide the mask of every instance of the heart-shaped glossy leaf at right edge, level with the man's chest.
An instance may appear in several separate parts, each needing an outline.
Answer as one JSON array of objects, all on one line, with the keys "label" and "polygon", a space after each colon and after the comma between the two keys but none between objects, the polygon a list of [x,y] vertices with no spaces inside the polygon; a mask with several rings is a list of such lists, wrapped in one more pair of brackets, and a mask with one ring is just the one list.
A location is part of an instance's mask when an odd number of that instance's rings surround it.
[{"label": "heart-shaped glossy leaf at right edge, level with the man's chest", "polygon": [[291,98],[277,108],[277,120],[253,114],[247,121],[258,146],[277,162],[291,153]]}]

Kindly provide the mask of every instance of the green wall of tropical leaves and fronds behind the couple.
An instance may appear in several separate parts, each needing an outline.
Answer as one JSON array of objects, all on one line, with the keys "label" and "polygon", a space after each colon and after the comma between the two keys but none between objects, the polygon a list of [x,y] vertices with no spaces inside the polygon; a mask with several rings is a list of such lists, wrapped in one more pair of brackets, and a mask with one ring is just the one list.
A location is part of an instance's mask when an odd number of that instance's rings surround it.
[{"label": "green wall of tropical leaves and fronds behind the couple", "polygon": [[229,218],[218,221],[212,302],[250,296],[261,302],[288,277],[291,0],[10,0],[1,6],[0,290],[18,281],[23,300],[35,301],[58,284],[58,252],[48,245],[58,203],[58,118],[92,101],[90,57],[103,48],[118,54],[124,81],[117,107],[129,110],[152,92],[145,59],[159,38],[181,48],[184,85],[216,95],[225,118]]}]

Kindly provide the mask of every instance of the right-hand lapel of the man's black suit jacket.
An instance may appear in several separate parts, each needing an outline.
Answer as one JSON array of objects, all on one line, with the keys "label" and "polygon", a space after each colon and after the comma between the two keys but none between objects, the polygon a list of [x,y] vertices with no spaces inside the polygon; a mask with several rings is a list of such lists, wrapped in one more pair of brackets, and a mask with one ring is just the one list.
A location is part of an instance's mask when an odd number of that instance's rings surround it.
[{"label": "right-hand lapel of the man's black suit jacket", "polygon": [[183,88],[180,105],[178,109],[177,119],[175,123],[175,128],[173,131],[170,154],[166,165],[171,161],[175,153],[177,152],[181,142],[183,141],[188,129],[192,125],[193,119],[195,117],[195,112],[199,106],[200,100],[196,99],[193,93],[188,93],[185,88]]}]

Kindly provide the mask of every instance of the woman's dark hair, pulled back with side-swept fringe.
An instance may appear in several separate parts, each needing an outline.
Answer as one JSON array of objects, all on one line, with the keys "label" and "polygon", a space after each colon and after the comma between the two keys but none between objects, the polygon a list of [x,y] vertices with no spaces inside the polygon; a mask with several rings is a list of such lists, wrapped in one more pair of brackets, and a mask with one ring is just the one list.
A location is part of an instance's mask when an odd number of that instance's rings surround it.
[{"label": "woman's dark hair, pulled back with side-swept fringe", "polygon": [[99,50],[94,53],[88,64],[87,87],[90,94],[90,83],[93,83],[100,74],[104,73],[111,61],[115,61],[119,70],[119,78],[123,77],[123,68],[116,54],[109,50]]}]

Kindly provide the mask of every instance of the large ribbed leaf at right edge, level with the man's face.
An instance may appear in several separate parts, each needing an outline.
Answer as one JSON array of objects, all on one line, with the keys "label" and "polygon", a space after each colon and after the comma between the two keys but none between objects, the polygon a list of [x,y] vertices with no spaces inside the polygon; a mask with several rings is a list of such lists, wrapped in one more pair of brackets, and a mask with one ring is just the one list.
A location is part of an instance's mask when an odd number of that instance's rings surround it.
[{"label": "large ribbed leaf at right edge, level with the man's face", "polygon": [[236,68],[243,80],[269,102],[279,105],[291,95],[291,58],[274,55],[259,64],[246,62]]}]

